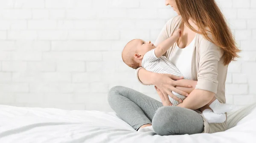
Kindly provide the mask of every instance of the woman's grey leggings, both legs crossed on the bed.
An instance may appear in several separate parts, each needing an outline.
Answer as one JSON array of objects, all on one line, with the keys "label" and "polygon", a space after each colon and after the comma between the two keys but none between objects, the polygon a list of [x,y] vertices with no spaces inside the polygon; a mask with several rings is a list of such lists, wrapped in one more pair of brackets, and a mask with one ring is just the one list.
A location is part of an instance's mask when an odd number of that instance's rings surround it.
[{"label": "woman's grey leggings, both legs crossed on the bed", "polygon": [[197,112],[162,103],[136,90],[116,86],[108,93],[108,103],[123,121],[135,130],[152,124],[157,135],[197,134],[204,131],[204,123]]}]

